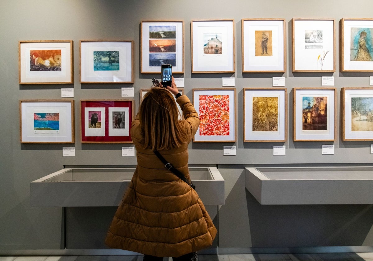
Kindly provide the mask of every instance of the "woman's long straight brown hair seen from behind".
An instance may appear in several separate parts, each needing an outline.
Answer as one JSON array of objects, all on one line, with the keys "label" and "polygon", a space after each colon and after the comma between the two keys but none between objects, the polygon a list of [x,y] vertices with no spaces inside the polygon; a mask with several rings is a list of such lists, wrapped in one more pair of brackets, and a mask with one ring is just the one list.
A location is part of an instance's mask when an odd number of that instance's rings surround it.
[{"label": "woman's long straight brown hair seen from behind", "polygon": [[170,150],[187,142],[179,124],[179,110],[172,94],[159,87],[148,91],[140,105],[140,127],[144,133],[144,148]]}]

